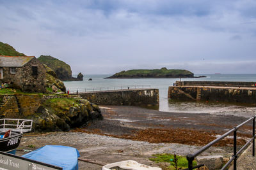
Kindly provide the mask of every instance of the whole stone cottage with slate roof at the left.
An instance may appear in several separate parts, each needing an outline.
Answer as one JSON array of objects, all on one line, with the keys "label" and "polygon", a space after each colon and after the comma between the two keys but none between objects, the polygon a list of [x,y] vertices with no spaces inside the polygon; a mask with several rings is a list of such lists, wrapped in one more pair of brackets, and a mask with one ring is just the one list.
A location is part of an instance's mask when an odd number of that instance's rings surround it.
[{"label": "whole stone cottage with slate roof at the left", "polygon": [[35,56],[0,55],[0,83],[24,92],[46,91],[46,69]]}]

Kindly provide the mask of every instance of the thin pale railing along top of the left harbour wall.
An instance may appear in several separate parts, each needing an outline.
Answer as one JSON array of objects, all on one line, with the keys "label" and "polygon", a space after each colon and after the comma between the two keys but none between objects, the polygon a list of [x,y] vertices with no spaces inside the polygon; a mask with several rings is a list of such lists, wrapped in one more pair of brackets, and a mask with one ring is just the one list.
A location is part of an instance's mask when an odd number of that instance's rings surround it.
[{"label": "thin pale railing along top of the left harbour wall", "polygon": [[77,94],[79,92],[101,92],[101,91],[113,91],[113,90],[129,90],[129,89],[150,89],[150,85],[127,85],[127,86],[115,86],[115,87],[92,87],[92,88],[77,88],[68,89],[69,94]]}]

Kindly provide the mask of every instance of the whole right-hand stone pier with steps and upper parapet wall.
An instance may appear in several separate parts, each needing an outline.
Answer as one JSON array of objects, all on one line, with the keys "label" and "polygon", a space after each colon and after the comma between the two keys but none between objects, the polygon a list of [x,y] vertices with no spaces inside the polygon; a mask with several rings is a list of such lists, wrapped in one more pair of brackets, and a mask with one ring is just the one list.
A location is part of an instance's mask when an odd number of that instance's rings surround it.
[{"label": "whole right-hand stone pier with steps and upper parapet wall", "polygon": [[[218,84],[216,86],[213,85],[214,83],[208,83],[207,81],[206,83],[198,81],[196,82],[198,85],[195,85],[194,83],[195,81],[186,81],[186,83],[177,81],[175,83],[176,86],[169,87],[168,99],[179,101],[256,103],[256,87],[250,87],[250,84],[253,85],[254,82],[232,82],[232,86],[228,86],[228,83],[230,85],[230,82],[225,81],[216,81],[216,84]],[[221,86],[221,84],[227,85]],[[245,85],[248,85],[249,87],[246,87]]]}]

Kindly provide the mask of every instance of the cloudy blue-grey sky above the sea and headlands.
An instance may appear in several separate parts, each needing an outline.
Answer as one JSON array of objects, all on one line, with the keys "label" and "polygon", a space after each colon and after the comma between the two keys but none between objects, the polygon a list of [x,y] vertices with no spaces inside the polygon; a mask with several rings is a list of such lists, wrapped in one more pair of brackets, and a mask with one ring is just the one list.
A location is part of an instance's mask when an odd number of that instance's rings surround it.
[{"label": "cloudy blue-grey sky above the sea and headlands", "polygon": [[72,73],[256,73],[255,0],[0,0],[0,41]]}]

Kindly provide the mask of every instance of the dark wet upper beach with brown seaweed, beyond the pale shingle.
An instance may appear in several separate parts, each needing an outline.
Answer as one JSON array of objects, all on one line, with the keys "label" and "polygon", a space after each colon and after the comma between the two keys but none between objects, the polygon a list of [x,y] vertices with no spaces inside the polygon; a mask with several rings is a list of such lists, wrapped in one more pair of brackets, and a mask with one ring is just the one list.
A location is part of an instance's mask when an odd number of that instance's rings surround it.
[{"label": "dark wet upper beach with brown seaweed, beyond the pale shingle", "polygon": [[[131,106],[101,106],[104,120],[95,121],[77,131],[105,134],[117,138],[148,141],[150,143],[180,143],[206,145],[232,127],[248,118],[232,115],[210,115],[207,113],[170,113]],[[238,131],[241,139],[249,138],[252,125],[244,125]],[[219,146],[232,144],[231,139]]]}]

